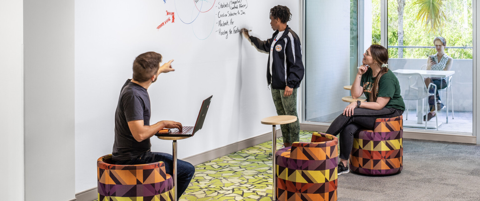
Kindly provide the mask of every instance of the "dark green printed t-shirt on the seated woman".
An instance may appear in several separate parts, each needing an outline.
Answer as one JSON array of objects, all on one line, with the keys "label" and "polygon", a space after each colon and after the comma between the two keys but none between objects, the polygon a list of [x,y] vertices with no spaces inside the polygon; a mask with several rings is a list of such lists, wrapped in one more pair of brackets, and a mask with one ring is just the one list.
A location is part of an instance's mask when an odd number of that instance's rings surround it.
[{"label": "dark green printed t-shirt on the seated woman", "polygon": [[[363,93],[367,97],[367,101],[370,101],[370,94],[372,93],[372,85],[376,78],[372,76],[372,68],[368,68],[360,79],[360,86],[363,87]],[[400,96],[400,84],[395,74],[388,69],[378,83],[377,97],[390,97],[390,101],[385,105],[386,108],[396,108],[405,111],[405,103],[402,96]]]}]

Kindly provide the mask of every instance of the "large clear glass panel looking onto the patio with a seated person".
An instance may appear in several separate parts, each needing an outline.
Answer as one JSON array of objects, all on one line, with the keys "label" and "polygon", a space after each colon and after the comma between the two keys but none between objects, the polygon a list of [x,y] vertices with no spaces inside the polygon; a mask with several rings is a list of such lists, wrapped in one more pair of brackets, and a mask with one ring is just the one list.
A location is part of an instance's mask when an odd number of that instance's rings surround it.
[{"label": "large clear glass panel looking onto the patio with a seated person", "polygon": [[[432,117],[428,130],[436,130],[438,118],[440,131],[470,135],[473,125],[472,0],[388,0],[387,3],[389,68],[399,73],[420,73],[425,90],[428,91],[430,83],[440,89],[438,96],[425,97],[423,101],[408,101],[413,98],[404,95],[408,106],[403,115],[404,126],[425,129],[425,118]],[[422,20],[422,16],[426,18]],[[375,20],[380,19],[374,18],[373,24],[380,23]],[[372,34],[372,41],[376,41],[373,35],[376,34]],[[446,47],[442,40],[434,44],[438,36],[445,38]],[[433,85],[429,93],[436,94]],[[406,85],[402,91],[411,95],[420,93],[421,89]]]}]

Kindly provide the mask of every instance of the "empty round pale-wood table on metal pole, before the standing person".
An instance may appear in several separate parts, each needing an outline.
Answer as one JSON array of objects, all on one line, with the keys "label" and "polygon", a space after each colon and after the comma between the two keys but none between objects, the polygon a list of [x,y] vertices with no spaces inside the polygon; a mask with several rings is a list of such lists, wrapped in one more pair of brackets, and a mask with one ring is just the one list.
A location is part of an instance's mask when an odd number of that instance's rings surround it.
[{"label": "empty round pale-wood table on metal pole, before the standing person", "polygon": [[[272,179],[272,192],[273,200],[276,201],[276,171],[275,171],[275,161],[276,161],[276,125],[282,125],[287,123],[292,123],[297,121],[296,116],[292,115],[278,115],[262,119],[262,124],[272,125],[272,167],[273,167],[273,179]],[[175,180],[174,180],[175,181]]]}]

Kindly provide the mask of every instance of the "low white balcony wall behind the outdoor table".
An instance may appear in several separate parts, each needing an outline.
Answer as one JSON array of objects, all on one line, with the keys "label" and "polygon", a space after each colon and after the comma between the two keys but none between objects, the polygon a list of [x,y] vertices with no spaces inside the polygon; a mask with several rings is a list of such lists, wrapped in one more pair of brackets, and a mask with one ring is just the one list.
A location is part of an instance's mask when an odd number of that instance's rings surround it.
[{"label": "low white balcony wall behind the outdoor table", "polygon": [[[388,60],[388,67],[391,70],[396,69],[420,69],[427,63],[427,59],[399,59],[391,58]],[[473,60],[472,59],[454,59],[452,70],[455,74],[452,76],[452,87],[454,95],[455,111],[473,111]],[[440,90],[440,98],[446,104],[446,90]],[[450,92],[449,92],[450,93]],[[452,98],[449,95],[449,98]],[[450,99],[451,100],[451,99]],[[407,102],[407,101],[405,101]],[[416,101],[409,101],[410,109],[416,108]],[[451,104],[451,103],[450,103]],[[451,105],[449,106],[451,107]]]}]

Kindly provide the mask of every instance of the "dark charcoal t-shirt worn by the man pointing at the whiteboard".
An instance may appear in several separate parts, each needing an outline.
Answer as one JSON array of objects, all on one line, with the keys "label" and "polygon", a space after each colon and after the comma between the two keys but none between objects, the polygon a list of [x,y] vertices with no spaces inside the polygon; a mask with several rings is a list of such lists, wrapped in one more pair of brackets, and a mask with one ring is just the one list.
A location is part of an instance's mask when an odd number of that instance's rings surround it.
[{"label": "dark charcoal t-shirt worn by the man pointing at the whiteboard", "polygon": [[137,142],[128,127],[128,122],[144,120],[150,125],[150,97],[147,89],[128,79],[120,91],[115,111],[115,142],[112,160],[130,160],[150,151],[150,138]]}]

